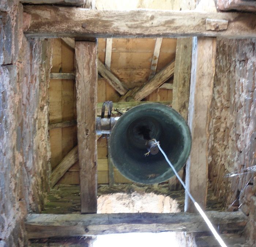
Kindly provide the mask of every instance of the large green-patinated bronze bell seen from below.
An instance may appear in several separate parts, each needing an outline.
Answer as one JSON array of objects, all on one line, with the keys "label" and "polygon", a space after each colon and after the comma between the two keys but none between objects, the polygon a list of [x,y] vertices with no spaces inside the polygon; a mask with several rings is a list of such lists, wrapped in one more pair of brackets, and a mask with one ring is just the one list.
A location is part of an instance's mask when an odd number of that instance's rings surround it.
[{"label": "large green-patinated bronze bell seen from below", "polygon": [[110,135],[110,158],[127,179],[155,184],[174,175],[152,139],[160,142],[177,171],[185,165],[191,151],[187,123],[168,106],[146,103],[123,114]]}]

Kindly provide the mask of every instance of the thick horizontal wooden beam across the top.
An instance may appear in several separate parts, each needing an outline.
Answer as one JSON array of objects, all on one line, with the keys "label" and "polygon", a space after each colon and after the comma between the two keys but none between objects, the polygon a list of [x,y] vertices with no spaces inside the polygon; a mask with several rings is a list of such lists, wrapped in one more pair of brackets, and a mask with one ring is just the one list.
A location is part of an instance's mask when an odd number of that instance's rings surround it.
[{"label": "thick horizontal wooden beam across the top", "polygon": [[[180,37],[211,36],[256,38],[256,14],[242,12],[113,11],[69,8],[50,5],[26,5],[31,15],[27,37]],[[206,30],[206,19],[227,20],[226,30]]]}]

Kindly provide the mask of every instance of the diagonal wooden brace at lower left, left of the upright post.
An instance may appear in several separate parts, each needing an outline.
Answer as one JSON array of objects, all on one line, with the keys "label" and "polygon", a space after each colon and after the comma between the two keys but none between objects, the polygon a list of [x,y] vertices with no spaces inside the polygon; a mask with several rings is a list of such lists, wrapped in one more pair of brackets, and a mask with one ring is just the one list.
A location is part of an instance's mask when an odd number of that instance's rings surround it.
[{"label": "diagonal wooden brace at lower left, left of the upright post", "polygon": [[50,175],[50,185],[53,187],[63,177],[65,172],[78,161],[78,148],[75,146],[56,166]]}]

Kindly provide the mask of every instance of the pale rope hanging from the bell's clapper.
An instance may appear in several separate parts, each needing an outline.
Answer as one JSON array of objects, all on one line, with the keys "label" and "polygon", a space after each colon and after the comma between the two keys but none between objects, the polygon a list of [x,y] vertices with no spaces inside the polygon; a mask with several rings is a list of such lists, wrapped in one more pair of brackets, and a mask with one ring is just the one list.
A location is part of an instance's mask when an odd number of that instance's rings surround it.
[{"label": "pale rope hanging from the bell's clapper", "polygon": [[155,144],[157,144],[159,150],[161,151],[161,153],[163,154],[163,156],[165,157],[167,163],[170,165],[170,167],[173,169],[173,172],[175,173],[176,177],[178,178],[178,180],[180,181],[180,183],[182,184],[182,186],[184,187],[185,191],[187,192],[188,196],[190,197],[191,201],[194,203],[197,211],[200,213],[200,215],[203,217],[204,221],[206,222],[207,226],[210,228],[212,234],[214,235],[214,237],[217,239],[217,241],[219,242],[219,244],[222,247],[227,247],[226,244],[223,242],[223,240],[221,239],[221,236],[219,236],[219,234],[217,233],[217,231],[215,230],[214,226],[212,225],[211,221],[208,219],[208,217],[206,216],[206,214],[204,213],[204,211],[202,210],[202,208],[199,206],[199,204],[195,201],[195,199],[193,198],[193,196],[191,195],[191,193],[189,192],[189,190],[187,189],[185,183],[182,181],[182,179],[180,178],[180,176],[178,175],[178,173],[176,172],[176,169],[174,168],[174,166],[172,165],[172,163],[170,162],[170,160],[168,159],[168,157],[166,156],[165,152],[163,151],[163,149],[161,148],[159,141],[155,141]]}]

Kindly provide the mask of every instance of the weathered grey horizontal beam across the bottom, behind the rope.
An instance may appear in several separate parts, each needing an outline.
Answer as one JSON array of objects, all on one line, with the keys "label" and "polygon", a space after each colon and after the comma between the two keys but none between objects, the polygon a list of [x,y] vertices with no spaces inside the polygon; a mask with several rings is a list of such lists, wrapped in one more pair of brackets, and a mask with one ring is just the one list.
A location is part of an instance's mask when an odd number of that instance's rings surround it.
[{"label": "weathered grey horizontal beam across the bottom, behind the rope", "polygon": [[[242,231],[247,217],[241,212],[206,212],[218,231]],[[89,236],[127,232],[206,232],[208,227],[194,213],[94,213],[29,214],[26,218],[29,239],[61,236]]]}]

